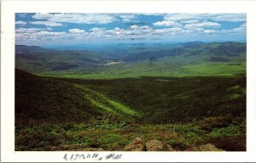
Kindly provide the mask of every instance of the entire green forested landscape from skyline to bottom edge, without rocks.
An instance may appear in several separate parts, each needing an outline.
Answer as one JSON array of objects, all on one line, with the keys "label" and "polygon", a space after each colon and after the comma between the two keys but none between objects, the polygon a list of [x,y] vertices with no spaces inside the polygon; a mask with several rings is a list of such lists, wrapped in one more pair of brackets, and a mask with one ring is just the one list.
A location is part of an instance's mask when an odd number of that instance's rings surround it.
[{"label": "entire green forested landscape from skyline to bottom edge, without rocks", "polygon": [[17,45],[15,57],[15,150],[129,150],[136,138],[246,150],[246,43]]}]

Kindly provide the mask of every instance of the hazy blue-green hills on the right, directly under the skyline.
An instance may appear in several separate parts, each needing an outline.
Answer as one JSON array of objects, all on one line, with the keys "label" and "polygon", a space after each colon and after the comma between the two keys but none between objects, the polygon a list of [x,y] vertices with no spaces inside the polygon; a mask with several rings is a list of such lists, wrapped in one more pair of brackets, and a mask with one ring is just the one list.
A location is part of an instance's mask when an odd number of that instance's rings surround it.
[{"label": "hazy blue-green hills on the right, directly under the skyline", "polygon": [[[219,59],[224,59],[226,57],[234,58],[240,55],[245,56],[246,51],[246,43],[241,42],[187,42],[160,46],[160,48],[148,48],[145,49],[143,52],[133,51],[133,53],[130,53],[130,55],[127,55],[122,59],[124,59],[125,61],[138,61],[150,59],[150,57],[152,56],[157,58],[163,58],[177,55],[183,55],[184,57],[187,55],[204,55],[207,56],[208,59],[211,59],[211,57],[218,57]],[[229,60],[232,59],[230,58]]]}]

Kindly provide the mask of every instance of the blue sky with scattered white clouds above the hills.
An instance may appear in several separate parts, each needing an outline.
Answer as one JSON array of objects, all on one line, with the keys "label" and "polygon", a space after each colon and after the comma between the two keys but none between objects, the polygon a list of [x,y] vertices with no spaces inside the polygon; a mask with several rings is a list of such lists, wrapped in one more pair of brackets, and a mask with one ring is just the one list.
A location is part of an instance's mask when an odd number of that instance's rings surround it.
[{"label": "blue sky with scattered white clouds above the hills", "polygon": [[246,41],[246,14],[15,14],[22,45]]}]

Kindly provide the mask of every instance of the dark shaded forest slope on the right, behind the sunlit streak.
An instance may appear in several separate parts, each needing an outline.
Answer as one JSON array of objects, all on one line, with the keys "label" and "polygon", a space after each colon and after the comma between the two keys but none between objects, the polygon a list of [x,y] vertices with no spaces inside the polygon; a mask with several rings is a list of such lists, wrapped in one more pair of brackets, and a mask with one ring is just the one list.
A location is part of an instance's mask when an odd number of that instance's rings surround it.
[{"label": "dark shaded forest slope on the right, behind the sunlit streak", "polygon": [[137,110],[142,113],[137,118],[140,123],[185,122],[207,116],[240,115],[246,111],[244,76],[56,80],[89,87],[113,99],[114,103]]}]

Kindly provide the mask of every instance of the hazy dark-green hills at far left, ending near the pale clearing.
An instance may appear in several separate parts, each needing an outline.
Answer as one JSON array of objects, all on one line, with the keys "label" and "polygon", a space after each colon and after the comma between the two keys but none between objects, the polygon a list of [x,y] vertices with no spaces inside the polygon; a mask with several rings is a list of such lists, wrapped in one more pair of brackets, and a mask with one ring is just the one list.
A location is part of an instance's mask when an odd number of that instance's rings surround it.
[{"label": "hazy dark-green hills at far left, ending near the pale clearing", "polygon": [[86,50],[54,50],[23,45],[15,46],[15,65],[20,70],[42,72],[47,70],[93,70],[108,62],[103,56]]}]

